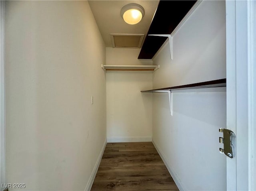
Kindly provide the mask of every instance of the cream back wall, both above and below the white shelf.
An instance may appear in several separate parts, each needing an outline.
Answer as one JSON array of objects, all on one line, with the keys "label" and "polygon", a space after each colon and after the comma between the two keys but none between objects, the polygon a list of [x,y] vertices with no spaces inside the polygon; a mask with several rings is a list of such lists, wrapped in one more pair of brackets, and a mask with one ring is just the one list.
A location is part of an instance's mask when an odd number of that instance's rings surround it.
[{"label": "cream back wall, both above and below the white shelf", "polygon": [[[139,49],[106,48],[108,65],[142,65]],[[108,142],[152,140],[152,95],[141,90],[152,89],[152,73],[107,72],[107,138]]]}]

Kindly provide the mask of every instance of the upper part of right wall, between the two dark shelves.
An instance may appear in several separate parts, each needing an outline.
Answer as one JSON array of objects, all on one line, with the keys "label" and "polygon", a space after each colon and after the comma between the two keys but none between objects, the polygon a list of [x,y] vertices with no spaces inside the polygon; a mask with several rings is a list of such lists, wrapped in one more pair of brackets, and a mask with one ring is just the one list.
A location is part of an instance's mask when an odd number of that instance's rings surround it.
[{"label": "upper part of right wall, between the two dark shelves", "polygon": [[[225,3],[203,1],[173,36],[173,60],[169,44],[154,65],[154,87],[170,87],[226,77]],[[165,54],[165,53],[162,53]]]}]

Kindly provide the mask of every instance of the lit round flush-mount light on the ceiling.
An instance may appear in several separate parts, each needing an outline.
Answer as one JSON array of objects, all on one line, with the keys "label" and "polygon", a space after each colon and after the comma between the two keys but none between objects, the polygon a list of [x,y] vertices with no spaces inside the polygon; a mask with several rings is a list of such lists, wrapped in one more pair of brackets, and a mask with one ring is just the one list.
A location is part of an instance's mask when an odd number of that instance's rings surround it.
[{"label": "lit round flush-mount light on the ceiling", "polygon": [[121,9],[121,17],[130,25],[137,24],[144,16],[144,8],[136,3],[127,4]]}]

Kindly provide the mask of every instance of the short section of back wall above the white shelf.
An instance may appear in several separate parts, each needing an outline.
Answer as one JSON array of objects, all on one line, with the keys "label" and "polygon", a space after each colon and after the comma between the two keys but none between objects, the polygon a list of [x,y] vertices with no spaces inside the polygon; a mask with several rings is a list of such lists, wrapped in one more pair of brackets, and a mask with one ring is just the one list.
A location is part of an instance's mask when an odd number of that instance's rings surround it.
[{"label": "short section of back wall above the white shelf", "polygon": [[106,65],[152,65],[151,60],[139,60],[140,48],[106,47]]}]

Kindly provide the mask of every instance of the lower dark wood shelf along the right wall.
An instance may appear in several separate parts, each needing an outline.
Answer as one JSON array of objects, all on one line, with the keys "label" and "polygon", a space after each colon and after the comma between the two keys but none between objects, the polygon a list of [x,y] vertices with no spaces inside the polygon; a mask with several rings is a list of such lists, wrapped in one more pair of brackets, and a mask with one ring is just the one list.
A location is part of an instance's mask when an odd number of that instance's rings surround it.
[{"label": "lower dark wood shelf along the right wall", "polygon": [[157,92],[157,91],[161,91],[161,90],[171,91],[171,90],[215,88],[215,87],[226,87],[226,78],[212,80],[212,81],[206,81],[206,82],[200,82],[200,83],[194,83],[194,84],[181,85],[181,86],[145,90],[145,91],[141,91],[141,92]]}]

